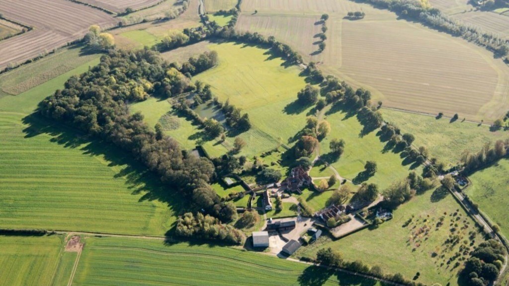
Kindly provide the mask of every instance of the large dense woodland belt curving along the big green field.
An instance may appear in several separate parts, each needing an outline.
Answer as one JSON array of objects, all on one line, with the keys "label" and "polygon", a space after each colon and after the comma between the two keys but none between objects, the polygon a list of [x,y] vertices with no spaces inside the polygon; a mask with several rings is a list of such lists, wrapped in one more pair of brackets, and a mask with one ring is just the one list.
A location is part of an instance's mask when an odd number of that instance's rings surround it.
[{"label": "large dense woodland belt curving along the big green field", "polygon": [[230,221],[233,205],[221,204],[209,185],[214,177],[211,162],[183,152],[177,141],[150,130],[143,115],[129,112],[128,102],[143,100],[140,93],[166,96],[169,91],[191,89],[188,79],[181,81],[186,78],[154,51],[110,51],[99,65],[72,76],[63,90],[43,100],[39,112],[129,152],[160,176],[167,191],[178,191],[196,206]]}]

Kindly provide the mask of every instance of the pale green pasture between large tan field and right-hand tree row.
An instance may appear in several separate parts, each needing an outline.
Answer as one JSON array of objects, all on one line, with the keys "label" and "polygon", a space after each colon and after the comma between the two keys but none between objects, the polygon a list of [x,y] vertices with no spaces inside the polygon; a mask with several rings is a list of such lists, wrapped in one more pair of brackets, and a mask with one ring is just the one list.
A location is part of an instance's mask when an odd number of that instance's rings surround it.
[{"label": "pale green pasture between large tan field and right-hand tree row", "polygon": [[431,157],[449,166],[459,163],[463,151],[477,152],[487,142],[509,138],[505,131],[490,131],[489,126],[462,122],[462,118],[450,123],[447,118],[382,109],[383,118],[415,136],[415,146],[425,146]]}]

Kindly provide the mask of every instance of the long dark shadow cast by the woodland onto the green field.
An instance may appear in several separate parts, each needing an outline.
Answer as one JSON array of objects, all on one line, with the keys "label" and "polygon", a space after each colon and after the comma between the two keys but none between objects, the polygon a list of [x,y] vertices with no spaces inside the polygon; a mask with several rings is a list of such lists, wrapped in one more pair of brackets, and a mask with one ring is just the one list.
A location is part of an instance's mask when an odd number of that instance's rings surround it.
[{"label": "long dark shadow cast by the woodland onto the green field", "polygon": [[78,149],[83,155],[104,158],[109,167],[114,167],[112,170],[118,170],[113,178],[124,178],[131,194],[141,195],[138,202],[159,201],[167,205],[175,214],[181,214],[183,210],[189,209],[188,202],[178,191],[163,185],[154,173],[137,162],[130,153],[110,142],[88,136],[63,124],[51,122],[37,113],[24,117],[22,122],[27,125],[23,129],[25,138],[46,134],[51,136],[49,139],[51,142],[64,148]]}]

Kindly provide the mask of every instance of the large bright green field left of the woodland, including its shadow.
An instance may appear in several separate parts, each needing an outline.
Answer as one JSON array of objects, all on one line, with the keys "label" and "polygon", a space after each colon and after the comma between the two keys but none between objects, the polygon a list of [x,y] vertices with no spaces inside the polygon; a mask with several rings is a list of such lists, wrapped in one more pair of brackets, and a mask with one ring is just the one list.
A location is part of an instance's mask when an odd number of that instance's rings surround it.
[{"label": "large bright green field left of the woodland, including its shadow", "polygon": [[[180,199],[126,154],[73,129],[29,116],[84,64],[17,96],[0,99],[0,224],[121,234],[163,235]],[[174,204],[175,201],[179,204]]]}]

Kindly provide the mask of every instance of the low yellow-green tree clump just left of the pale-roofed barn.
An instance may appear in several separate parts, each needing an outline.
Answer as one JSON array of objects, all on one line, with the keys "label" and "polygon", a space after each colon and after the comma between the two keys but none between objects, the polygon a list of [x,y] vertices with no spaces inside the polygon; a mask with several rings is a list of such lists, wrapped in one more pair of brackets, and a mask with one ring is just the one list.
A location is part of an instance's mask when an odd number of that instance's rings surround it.
[{"label": "low yellow-green tree clump just left of the pale-roofed barn", "polygon": [[241,245],[244,234],[229,224],[223,224],[209,215],[186,213],[177,221],[177,235],[193,239],[214,239]]}]

